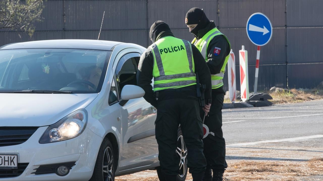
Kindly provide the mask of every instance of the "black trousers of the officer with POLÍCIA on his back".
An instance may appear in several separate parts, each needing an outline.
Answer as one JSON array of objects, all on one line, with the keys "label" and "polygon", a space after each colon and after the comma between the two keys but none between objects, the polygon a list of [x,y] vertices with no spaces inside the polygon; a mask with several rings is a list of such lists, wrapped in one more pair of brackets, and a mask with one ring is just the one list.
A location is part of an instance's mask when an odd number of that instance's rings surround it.
[{"label": "black trousers of the officer with POL\u00cdCIA on his back", "polygon": [[180,158],[176,155],[177,130],[181,124],[187,147],[187,166],[192,174],[203,173],[203,126],[196,90],[189,88],[161,90],[158,95],[155,132],[159,161],[165,175],[179,174]]}]

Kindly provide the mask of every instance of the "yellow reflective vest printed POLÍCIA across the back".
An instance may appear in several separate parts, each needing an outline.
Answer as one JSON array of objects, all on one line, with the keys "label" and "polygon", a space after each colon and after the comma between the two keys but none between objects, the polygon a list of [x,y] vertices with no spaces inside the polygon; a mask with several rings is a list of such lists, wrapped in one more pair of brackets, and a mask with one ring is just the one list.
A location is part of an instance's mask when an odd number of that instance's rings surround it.
[{"label": "yellow reflective vest printed POL\u00cdCIA across the back", "polygon": [[166,36],[151,46],[154,56],[154,91],[177,89],[196,84],[191,43]]}]

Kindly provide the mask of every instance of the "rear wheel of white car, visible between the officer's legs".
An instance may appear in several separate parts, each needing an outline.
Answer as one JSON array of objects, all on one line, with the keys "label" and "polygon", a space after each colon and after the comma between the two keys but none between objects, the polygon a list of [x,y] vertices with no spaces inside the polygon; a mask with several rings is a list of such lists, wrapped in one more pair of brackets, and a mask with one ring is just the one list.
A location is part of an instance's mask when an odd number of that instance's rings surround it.
[{"label": "rear wheel of white car, visible between the officer's legs", "polygon": [[[177,149],[176,154],[180,157],[180,174],[177,175],[177,181],[185,181],[187,176],[187,148],[184,143],[181,127],[177,131]],[[157,175],[160,181],[167,181],[161,172],[161,167],[156,167]]]}]

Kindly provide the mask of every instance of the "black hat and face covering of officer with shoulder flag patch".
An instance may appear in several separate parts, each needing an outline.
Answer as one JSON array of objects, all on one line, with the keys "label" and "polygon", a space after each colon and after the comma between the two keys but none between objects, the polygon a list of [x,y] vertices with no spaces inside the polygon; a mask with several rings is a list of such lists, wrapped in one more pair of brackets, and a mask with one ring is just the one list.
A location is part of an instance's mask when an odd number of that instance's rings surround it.
[{"label": "black hat and face covering of officer with shoulder flag patch", "polygon": [[199,30],[204,29],[209,23],[210,20],[206,17],[204,11],[198,7],[193,7],[186,13],[185,24],[197,24],[197,26],[190,31],[195,37],[197,37]]}]

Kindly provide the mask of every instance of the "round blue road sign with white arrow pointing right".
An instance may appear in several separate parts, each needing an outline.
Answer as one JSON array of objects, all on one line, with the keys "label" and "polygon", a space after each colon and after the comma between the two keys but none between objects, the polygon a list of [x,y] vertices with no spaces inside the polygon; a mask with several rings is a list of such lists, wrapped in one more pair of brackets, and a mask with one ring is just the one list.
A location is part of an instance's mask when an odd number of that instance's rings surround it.
[{"label": "round blue road sign with white arrow pointing right", "polygon": [[247,21],[247,35],[252,43],[263,46],[273,35],[273,26],[265,14],[252,14]]}]

